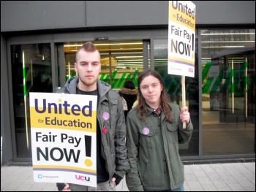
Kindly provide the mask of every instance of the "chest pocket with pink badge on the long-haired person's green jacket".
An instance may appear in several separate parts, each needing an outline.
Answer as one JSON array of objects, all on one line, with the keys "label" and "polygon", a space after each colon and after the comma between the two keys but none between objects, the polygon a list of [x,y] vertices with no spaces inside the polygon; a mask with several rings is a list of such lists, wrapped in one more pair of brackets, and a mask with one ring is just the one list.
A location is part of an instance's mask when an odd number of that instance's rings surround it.
[{"label": "chest pocket with pink badge on the long-haired person's green jacket", "polygon": [[157,131],[158,126],[151,128],[140,128],[140,145],[143,147],[154,148],[160,144],[160,135]]}]

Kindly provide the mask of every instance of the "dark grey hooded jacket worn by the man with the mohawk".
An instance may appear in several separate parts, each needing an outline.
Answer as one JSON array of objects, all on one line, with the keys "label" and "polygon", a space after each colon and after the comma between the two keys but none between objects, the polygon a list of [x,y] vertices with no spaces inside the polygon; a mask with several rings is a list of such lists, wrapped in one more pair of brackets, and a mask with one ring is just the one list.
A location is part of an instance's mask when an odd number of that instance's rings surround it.
[{"label": "dark grey hooded jacket worn by the man with the mohawk", "polygon": [[[56,93],[75,94],[78,80],[78,77],[70,78],[64,87],[56,91]],[[124,178],[124,174],[129,172],[130,166],[125,145],[127,133],[121,98],[116,91],[111,89],[108,83],[100,80],[97,80],[97,91],[99,93],[97,120],[102,133],[103,145],[101,154],[107,162],[109,179],[111,180],[114,173]],[[106,117],[106,114],[109,115],[109,118],[103,118]],[[108,129],[108,134],[103,134],[103,126]]]}]

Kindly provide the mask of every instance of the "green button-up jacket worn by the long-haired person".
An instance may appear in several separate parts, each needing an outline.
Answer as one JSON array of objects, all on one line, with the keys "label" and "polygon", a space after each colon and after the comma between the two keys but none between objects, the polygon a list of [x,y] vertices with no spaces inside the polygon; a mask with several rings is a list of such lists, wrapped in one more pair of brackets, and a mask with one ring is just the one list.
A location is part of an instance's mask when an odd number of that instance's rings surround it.
[{"label": "green button-up jacket worn by the long-haired person", "polygon": [[178,153],[178,144],[189,142],[193,126],[187,128],[179,118],[180,107],[170,103],[173,123],[163,120],[148,108],[143,123],[137,107],[127,115],[127,150],[131,166],[126,174],[129,191],[162,191],[181,187],[184,183],[184,165]]}]

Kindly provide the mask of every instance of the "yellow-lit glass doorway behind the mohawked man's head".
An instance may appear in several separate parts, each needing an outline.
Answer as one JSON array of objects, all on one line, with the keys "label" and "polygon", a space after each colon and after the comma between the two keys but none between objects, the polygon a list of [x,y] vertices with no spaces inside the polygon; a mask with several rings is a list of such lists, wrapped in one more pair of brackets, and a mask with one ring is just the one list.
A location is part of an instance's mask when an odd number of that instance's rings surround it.
[{"label": "yellow-lit glass doorway behind the mohawked man's head", "polygon": [[[132,79],[137,85],[138,74],[150,64],[149,55],[143,53],[143,40],[93,42],[101,55],[102,70],[99,80],[108,82],[118,91],[125,80]],[[65,77],[76,76],[75,54],[83,42],[64,43]],[[149,47],[149,46],[148,46]],[[145,59],[147,58],[147,59]]]}]

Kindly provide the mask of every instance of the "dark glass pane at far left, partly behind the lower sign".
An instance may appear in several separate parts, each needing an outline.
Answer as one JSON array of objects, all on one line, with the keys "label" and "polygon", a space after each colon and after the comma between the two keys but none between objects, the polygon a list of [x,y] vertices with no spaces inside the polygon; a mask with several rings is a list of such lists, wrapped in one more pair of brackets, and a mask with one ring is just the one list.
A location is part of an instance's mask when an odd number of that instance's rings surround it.
[{"label": "dark glass pane at far left, partly behind the lower sign", "polygon": [[50,44],[11,45],[12,96],[18,158],[31,158],[29,93],[52,93]]}]

